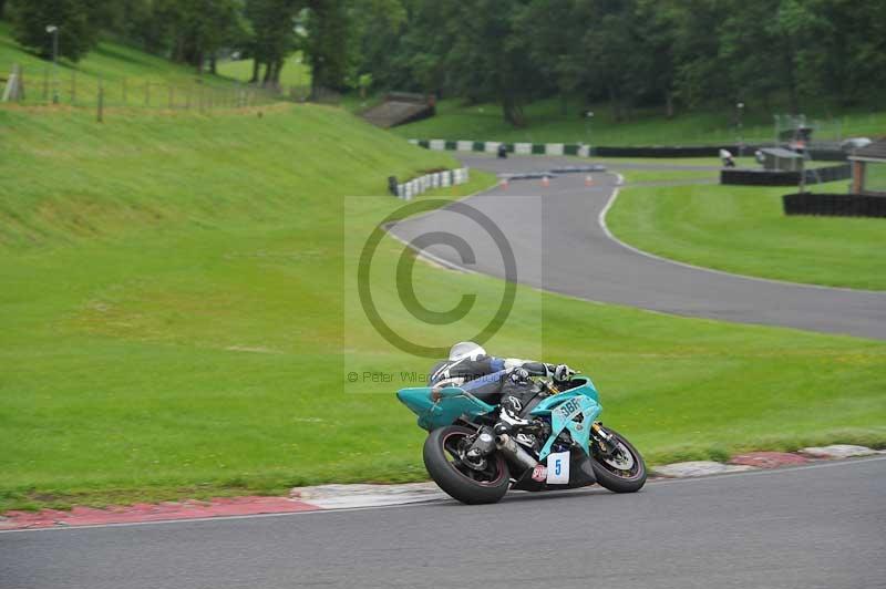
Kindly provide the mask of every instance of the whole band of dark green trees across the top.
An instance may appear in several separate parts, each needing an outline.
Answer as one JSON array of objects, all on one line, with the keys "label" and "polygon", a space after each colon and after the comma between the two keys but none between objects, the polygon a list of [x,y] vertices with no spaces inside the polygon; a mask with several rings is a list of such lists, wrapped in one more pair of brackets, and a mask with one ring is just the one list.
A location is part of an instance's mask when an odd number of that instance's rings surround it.
[{"label": "whole band of dark green trees across the top", "polygon": [[496,102],[514,125],[529,102],[639,107],[870,103],[886,90],[883,0],[0,0],[16,38],[44,55],[49,21],[76,60],[99,33],[213,70],[255,58],[279,81],[302,51],[319,86],[406,90]]}]

